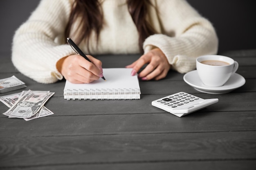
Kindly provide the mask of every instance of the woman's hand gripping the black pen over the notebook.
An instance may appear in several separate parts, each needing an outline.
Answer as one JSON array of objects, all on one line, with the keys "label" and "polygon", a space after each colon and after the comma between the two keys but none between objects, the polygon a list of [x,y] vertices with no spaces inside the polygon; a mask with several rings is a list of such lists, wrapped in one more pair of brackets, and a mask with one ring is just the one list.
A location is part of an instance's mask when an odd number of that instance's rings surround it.
[{"label": "woman's hand gripping the black pen over the notebook", "polygon": [[79,54],[60,59],[56,67],[58,71],[71,83],[91,83],[103,76],[100,60],[87,55],[92,61],[87,61]]}]

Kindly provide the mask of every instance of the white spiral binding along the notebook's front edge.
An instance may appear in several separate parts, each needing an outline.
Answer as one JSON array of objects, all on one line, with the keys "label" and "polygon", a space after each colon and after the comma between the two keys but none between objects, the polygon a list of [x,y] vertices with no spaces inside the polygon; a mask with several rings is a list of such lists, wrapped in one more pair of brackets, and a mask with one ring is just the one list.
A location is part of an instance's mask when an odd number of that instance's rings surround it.
[{"label": "white spiral binding along the notebook's front edge", "polygon": [[64,91],[64,98],[67,100],[132,100],[140,98],[140,90],[135,89],[66,89]]}]

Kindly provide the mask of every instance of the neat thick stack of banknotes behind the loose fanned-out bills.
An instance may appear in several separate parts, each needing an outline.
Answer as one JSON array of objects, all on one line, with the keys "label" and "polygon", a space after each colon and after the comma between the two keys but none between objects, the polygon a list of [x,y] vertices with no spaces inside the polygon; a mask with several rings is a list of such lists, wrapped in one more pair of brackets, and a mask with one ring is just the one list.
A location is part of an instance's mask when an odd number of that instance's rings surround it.
[{"label": "neat thick stack of banknotes behind the loose fanned-out bills", "polygon": [[0,93],[9,92],[11,90],[21,89],[24,87],[27,86],[16,76],[0,79]]}]

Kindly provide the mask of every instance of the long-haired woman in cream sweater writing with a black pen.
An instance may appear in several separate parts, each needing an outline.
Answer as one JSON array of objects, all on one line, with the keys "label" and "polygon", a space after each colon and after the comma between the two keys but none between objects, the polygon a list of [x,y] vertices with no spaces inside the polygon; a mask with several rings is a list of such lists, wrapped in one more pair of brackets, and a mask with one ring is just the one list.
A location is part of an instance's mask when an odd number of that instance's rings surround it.
[{"label": "long-haired woman in cream sweater writing with a black pen", "polygon": [[[70,37],[92,63],[70,48]],[[90,83],[103,76],[94,54],[143,55],[128,63],[134,76],[159,80],[170,69],[195,69],[195,58],[216,54],[218,38],[211,23],[185,0],[41,0],[13,37],[12,62],[40,83],[63,76]]]}]

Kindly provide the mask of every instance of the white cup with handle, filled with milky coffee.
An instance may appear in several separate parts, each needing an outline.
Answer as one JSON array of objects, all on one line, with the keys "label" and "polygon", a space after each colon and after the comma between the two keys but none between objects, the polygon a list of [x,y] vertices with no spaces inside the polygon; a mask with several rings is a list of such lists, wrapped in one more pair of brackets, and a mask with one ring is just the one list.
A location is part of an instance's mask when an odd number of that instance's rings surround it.
[{"label": "white cup with handle, filled with milky coffee", "polygon": [[222,55],[204,55],[196,59],[196,69],[204,85],[220,87],[236,72],[238,62]]}]

